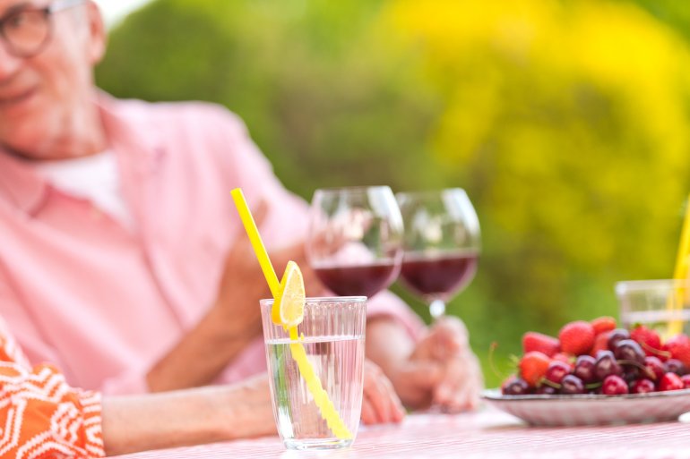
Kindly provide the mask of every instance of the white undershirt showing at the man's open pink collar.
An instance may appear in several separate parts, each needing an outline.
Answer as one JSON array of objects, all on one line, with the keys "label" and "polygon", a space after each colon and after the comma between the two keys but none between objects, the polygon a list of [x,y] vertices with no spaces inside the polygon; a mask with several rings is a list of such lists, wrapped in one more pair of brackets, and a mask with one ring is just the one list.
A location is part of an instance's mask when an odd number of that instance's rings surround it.
[{"label": "white undershirt showing at the man's open pink collar", "polygon": [[88,157],[33,163],[36,172],[58,190],[91,200],[94,206],[128,230],[134,228],[132,212],[125,202],[115,154],[106,150]]}]

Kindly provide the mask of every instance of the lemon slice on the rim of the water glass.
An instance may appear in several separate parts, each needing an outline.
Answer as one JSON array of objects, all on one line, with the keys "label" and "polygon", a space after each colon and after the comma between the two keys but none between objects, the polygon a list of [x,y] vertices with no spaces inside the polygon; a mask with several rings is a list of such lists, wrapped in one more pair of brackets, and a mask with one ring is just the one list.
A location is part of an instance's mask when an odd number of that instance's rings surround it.
[{"label": "lemon slice on the rim of the water glass", "polygon": [[294,261],[288,261],[282,280],[280,296],[276,298],[271,310],[274,324],[283,327],[297,327],[302,323],[305,314],[305,282],[302,271]]}]

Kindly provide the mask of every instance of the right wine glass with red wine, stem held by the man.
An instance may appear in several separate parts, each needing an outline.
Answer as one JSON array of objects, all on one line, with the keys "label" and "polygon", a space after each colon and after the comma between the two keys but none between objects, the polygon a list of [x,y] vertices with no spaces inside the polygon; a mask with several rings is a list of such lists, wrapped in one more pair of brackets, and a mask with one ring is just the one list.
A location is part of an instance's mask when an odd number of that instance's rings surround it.
[{"label": "right wine glass with red wine, stem held by the man", "polygon": [[445,303],[474,277],[480,250],[479,219],[460,188],[396,195],[405,226],[401,280],[441,318]]}]

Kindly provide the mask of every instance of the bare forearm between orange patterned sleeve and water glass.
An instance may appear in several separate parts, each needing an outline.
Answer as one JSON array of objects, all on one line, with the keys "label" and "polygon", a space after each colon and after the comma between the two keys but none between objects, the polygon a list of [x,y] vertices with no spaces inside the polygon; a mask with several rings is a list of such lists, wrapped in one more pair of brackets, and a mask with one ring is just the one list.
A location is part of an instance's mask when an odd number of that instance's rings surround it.
[{"label": "bare forearm between orange patterned sleeve and water glass", "polygon": [[107,455],[275,433],[265,374],[230,387],[104,398],[101,416]]}]

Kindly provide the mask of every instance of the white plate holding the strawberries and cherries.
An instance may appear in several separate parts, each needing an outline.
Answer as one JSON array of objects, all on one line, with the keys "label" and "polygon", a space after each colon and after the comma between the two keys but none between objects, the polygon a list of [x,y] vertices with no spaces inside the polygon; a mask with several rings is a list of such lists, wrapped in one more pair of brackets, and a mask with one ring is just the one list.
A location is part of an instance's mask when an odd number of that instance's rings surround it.
[{"label": "white plate holding the strawberries and cherries", "polygon": [[535,426],[586,426],[676,421],[690,412],[690,389],[630,395],[501,395],[482,398]]}]

